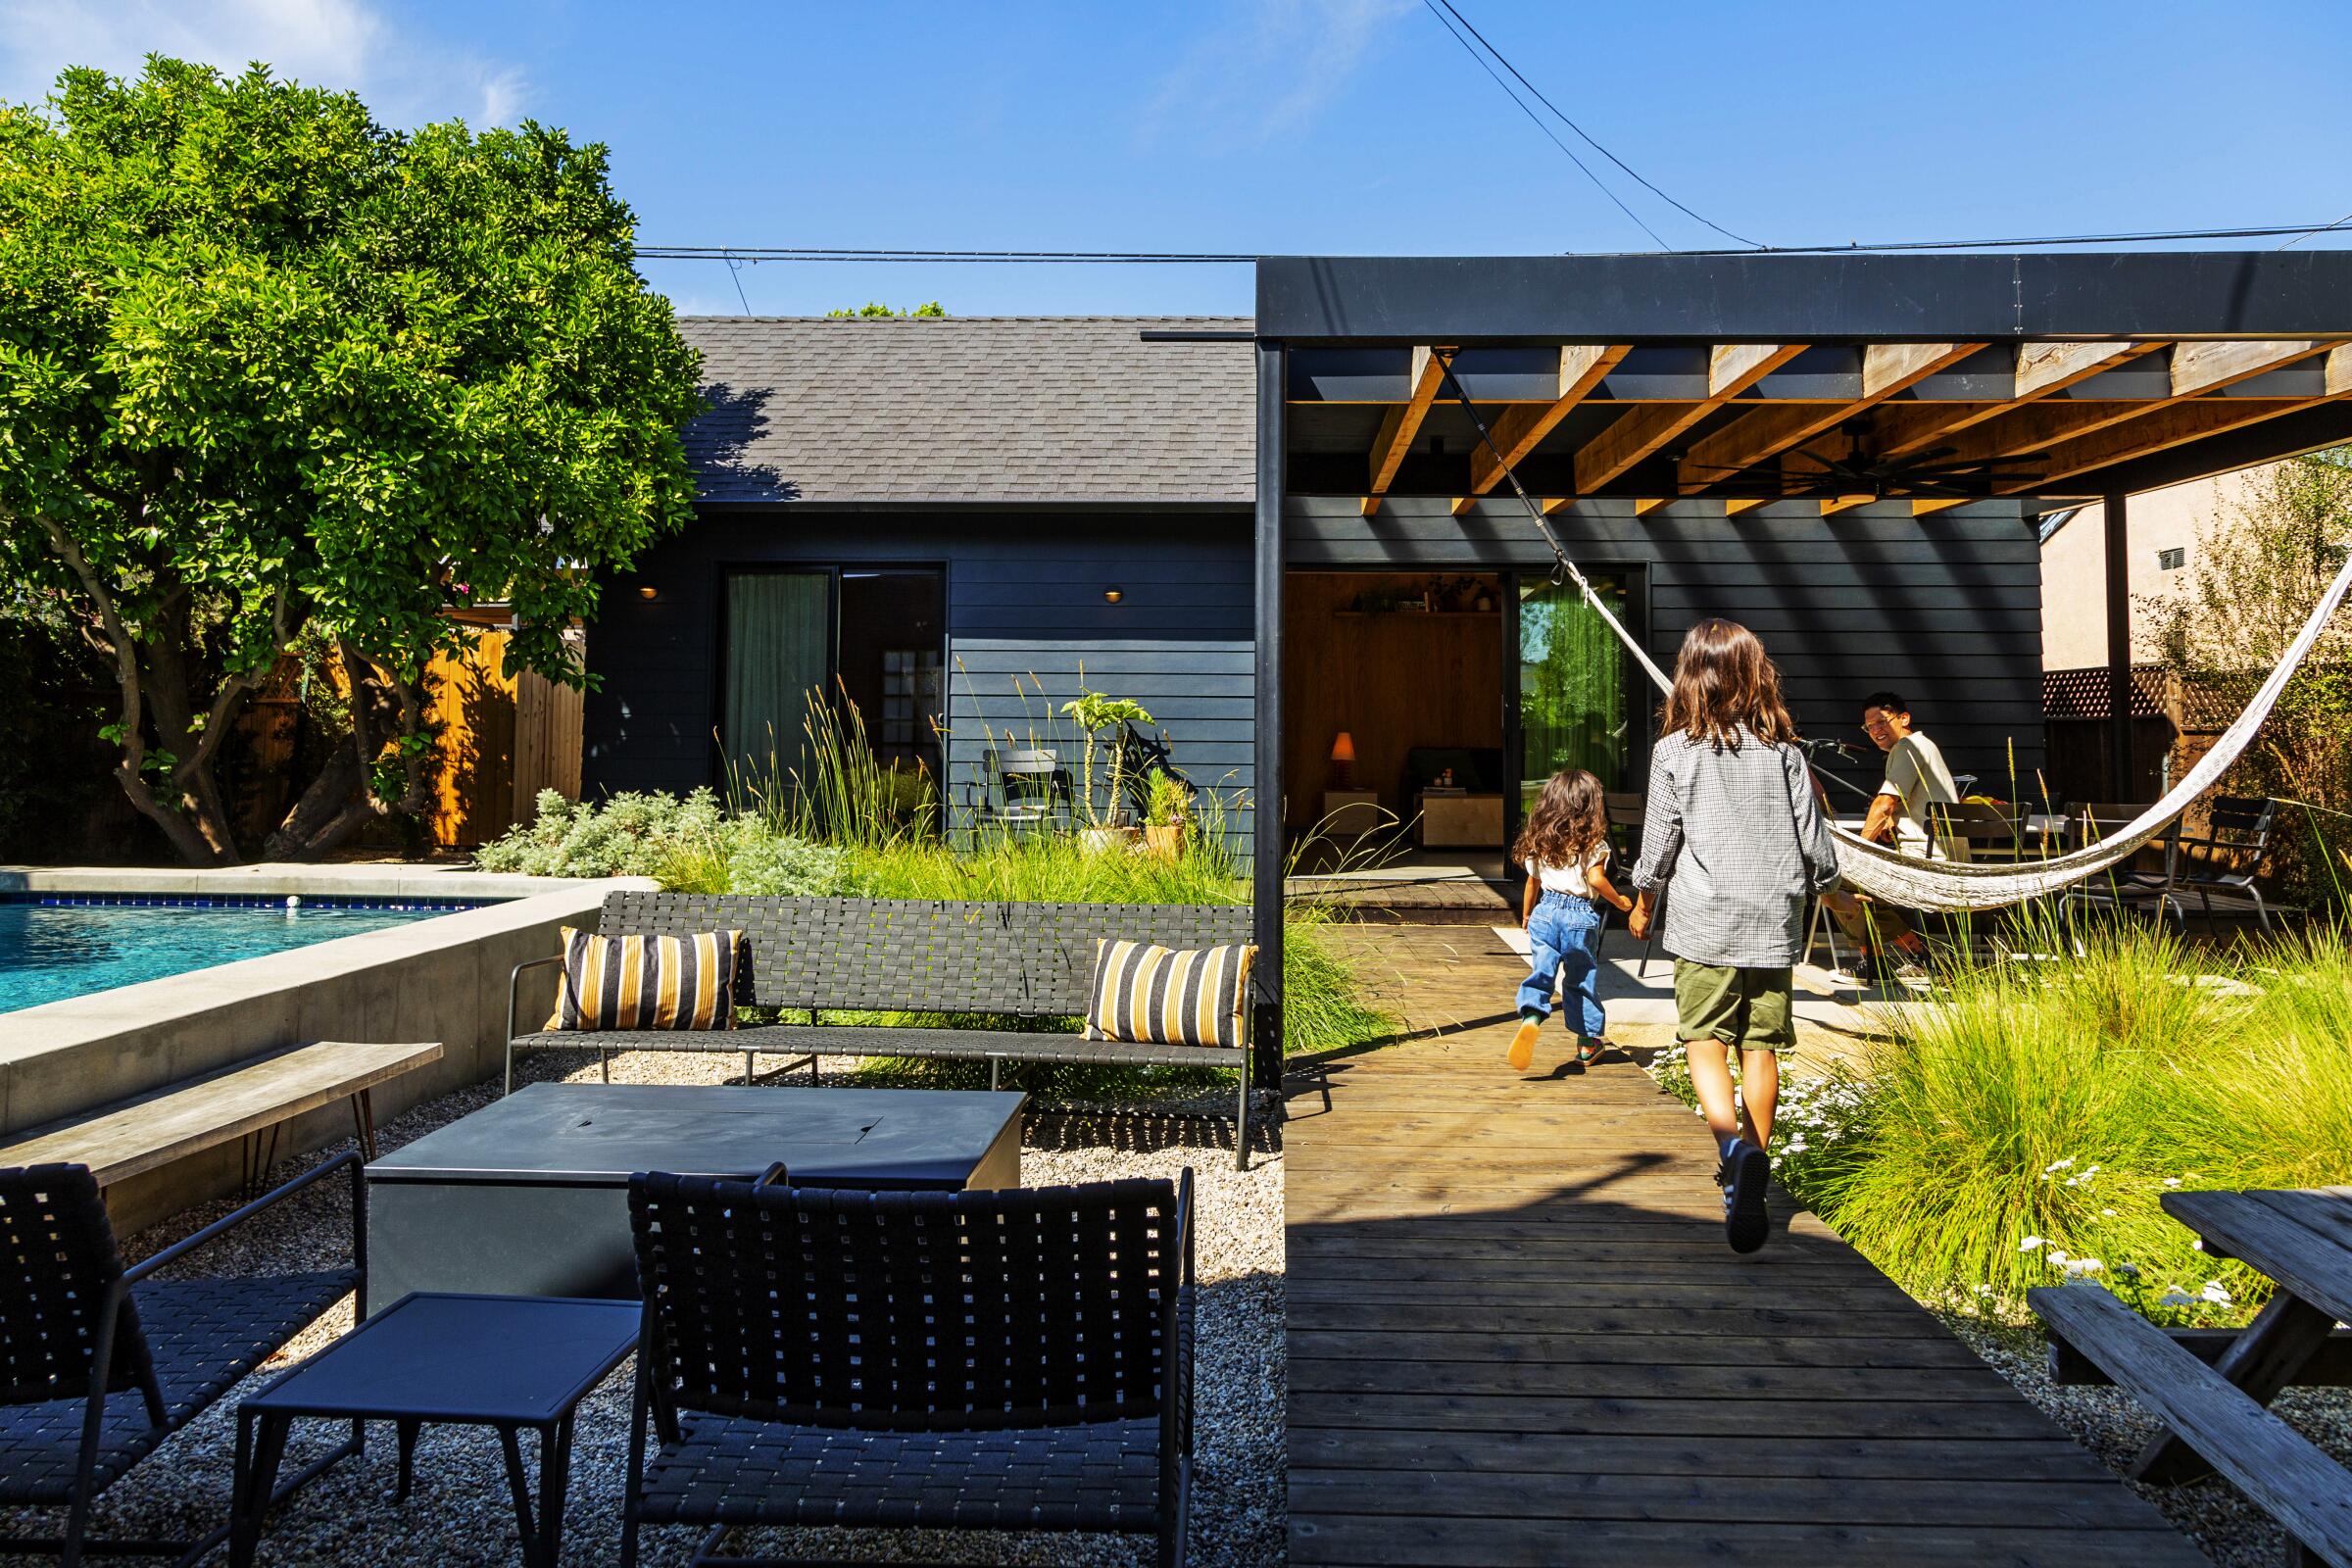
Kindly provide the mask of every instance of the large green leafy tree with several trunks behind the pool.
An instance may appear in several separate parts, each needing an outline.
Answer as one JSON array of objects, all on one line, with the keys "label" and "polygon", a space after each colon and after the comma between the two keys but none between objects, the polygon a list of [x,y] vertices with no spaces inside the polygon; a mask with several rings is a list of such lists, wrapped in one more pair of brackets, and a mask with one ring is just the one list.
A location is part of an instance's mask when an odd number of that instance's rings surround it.
[{"label": "large green leafy tree with several trunks behind the pool", "polygon": [[216,762],[296,637],[350,736],[263,853],[426,802],[423,670],[513,607],[581,682],[595,574],[689,515],[696,357],[602,146],[390,132],[353,94],[151,56],[0,106],[0,578],[106,661],[115,776],[191,863]]}]

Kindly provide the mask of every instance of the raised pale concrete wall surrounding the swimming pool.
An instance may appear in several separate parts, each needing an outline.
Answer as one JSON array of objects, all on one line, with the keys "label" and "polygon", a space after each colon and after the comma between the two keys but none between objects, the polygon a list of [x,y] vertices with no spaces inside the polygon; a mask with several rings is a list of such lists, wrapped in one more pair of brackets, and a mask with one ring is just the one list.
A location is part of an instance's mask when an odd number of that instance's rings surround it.
[{"label": "raised pale concrete wall surrounding the swimming pool", "polygon": [[[16,1135],[115,1100],[315,1039],[442,1044],[442,1060],[374,1091],[383,1124],[419,1100],[475,1084],[503,1063],[508,976],[555,952],[557,926],[593,926],[614,889],[640,877],[572,882],[419,867],[263,865],[223,872],[0,870],[28,893],[275,893],[343,898],[506,898],[388,931],[238,959],[0,1013],[0,1133]],[[553,1006],[555,976],[524,976],[524,1016]],[[350,1135],[334,1103],[278,1131],[278,1157]],[[238,1187],[238,1145],[108,1187],[122,1232]]]}]

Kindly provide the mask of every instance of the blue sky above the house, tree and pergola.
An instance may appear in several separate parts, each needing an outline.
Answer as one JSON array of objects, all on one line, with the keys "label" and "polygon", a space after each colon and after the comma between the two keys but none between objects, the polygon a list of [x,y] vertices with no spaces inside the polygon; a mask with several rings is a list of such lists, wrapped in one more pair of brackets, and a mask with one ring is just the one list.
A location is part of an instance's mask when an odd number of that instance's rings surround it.
[{"label": "blue sky above the house, tree and pergola", "polygon": [[[2352,212],[2340,5],[1456,5],[1635,169],[1769,242]],[[647,242],[1651,247],[1421,0],[0,0],[5,99],[146,49],[268,59],[388,122],[567,125],[612,146]],[[1722,242],[1616,183],[1670,244]],[[1249,308],[1240,266],[647,275],[699,313],[741,310],[736,282],[757,313]]]}]

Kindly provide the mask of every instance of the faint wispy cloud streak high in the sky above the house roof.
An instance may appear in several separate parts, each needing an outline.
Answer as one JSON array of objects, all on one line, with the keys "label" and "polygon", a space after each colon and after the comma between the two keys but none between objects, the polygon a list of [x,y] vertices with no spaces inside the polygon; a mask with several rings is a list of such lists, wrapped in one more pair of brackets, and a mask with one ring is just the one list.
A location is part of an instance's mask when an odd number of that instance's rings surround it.
[{"label": "faint wispy cloud streak high in the sky above the house roof", "polygon": [[1145,139],[1254,146],[1298,129],[1416,0],[1240,0],[1143,106]]}]

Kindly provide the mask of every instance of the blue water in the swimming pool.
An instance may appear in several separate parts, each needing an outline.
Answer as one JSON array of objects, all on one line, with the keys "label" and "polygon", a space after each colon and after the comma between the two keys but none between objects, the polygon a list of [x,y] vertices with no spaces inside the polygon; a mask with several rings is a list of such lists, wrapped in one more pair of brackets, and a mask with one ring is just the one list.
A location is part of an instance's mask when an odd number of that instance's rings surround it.
[{"label": "blue water in the swimming pool", "polygon": [[263,952],[430,919],[470,903],[306,898],[0,900],[0,1013]]}]

